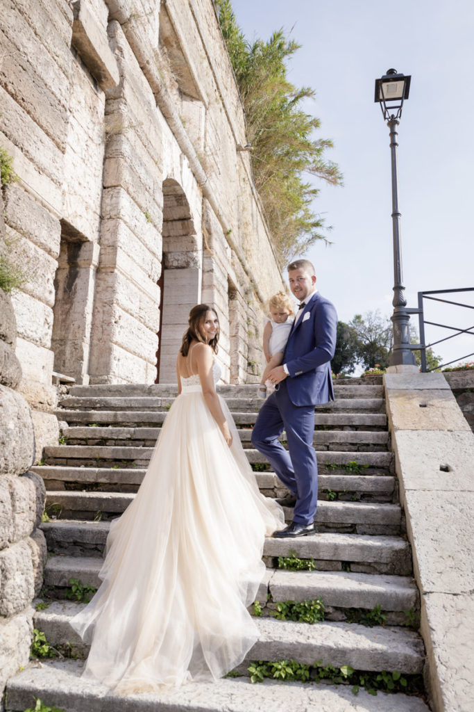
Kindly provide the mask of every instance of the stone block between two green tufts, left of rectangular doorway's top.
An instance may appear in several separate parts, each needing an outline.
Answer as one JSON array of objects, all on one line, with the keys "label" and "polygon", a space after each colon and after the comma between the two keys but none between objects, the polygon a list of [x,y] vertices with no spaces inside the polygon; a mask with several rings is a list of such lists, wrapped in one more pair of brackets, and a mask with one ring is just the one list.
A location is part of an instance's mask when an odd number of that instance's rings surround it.
[{"label": "stone block between two green tufts, left of rectangular doorway's top", "polygon": [[5,219],[17,233],[25,236],[53,258],[59,255],[60,221],[53,217],[18,183],[5,191]]}]

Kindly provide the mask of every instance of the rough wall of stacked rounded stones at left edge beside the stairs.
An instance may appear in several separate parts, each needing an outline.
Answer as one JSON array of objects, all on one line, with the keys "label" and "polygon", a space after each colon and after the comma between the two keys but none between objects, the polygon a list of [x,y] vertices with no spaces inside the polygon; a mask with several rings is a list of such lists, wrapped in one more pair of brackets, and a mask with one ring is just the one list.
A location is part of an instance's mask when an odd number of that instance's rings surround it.
[{"label": "rough wall of stacked rounded stones at left edge beside the stairs", "polygon": [[31,409],[14,390],[21,380],[15,346],[14,308],[0,289],[0,697],[9,676],[28,662],[31,601],[43,585],[46,560],[38,529],[45,487],[40,476],[28,472],[35,439]]}]

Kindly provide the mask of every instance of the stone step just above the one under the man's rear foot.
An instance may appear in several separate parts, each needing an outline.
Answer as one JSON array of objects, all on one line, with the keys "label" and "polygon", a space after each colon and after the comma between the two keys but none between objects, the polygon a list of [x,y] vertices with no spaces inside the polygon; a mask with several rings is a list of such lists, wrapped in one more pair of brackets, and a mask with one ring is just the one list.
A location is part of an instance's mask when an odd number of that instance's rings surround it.
[{"label": "stone step just above the one under the man's rear foot", "polygon": [[[102,490],[120,491],[121,486],[139,486],[143,481],[144,468],[105,468],[105,467],[69,467],[55,465],[33,465],[33,472],[43,478],[48,489],[58,488],[57,483],[77,483],[86,485],[103,485]],[[284,496],[286,488],[274,472],[256,472],[255,478],[260,490],[268,493],[274,491],[274,496]],[[318,490],[320,493],[333,492],[348,494],[367,493],[374,496],[390,497],[394,493],[395,478],[390,475],[335,475],[319,474]],[[281,493],[279,492],[281,490]]]}]

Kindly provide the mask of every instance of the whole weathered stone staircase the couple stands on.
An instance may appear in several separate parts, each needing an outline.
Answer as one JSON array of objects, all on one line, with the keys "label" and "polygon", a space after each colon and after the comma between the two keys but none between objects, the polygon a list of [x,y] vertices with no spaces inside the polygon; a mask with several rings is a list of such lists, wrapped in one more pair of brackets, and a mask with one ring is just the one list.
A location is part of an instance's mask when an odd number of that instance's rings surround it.
[{"label": "whole weathered stone staircase the couple stands on", "polygon": [[[259,487],[266,496],[284,496],[285,488],[250,441],[262,401],[254,385],[221,386],[239,429]],[[40,607],[35,627],[48,643],[73,655],[87,649],[69,626],[82,605],[65,601],[70,579],[97,587],[109,521],[134,497],[166,412],[176,397],[168,385],[101,385],[69,389],[60,401],[63,444],[45,449],[40,473],[47,490],[50,521],[42,528],[48,542],[45,592],[53,598]],[[314,444],[318,451],[318,534],[296,540],[268,539],[266,577],[257,600],[260,637],[242,676],[217,684],[193,684],[163,695],[119,698],[78,679],[82,662],[55,659],[32,662],[8,686],[8,708],[21,711],[33,697],[68,712],[166,710],[258,712],[346,710],[426,712],[418,696],[372,696],[348,685],[317,685],[266,680],[250,684],[249,661],[296,660],[313,665],[352,666],[369,673],[398,671],[420,675],[424,646],[410,624],[419,610],[411,577],[411,552],[404,538],[404,517],[397,497],[393,456],[381,384],[338,382],[336,401],[318,407]],[[291,520],[291,510],[286,510]],[[279,557],[313,560],[314,570],[284,570]],[[308,624],[272,616],[278,602],[321,598],[323,622]],[[48,603],[48,602],[47,602]],[[376,623],[368,627],[367,622]],[[364,624],[365,623],[365,624]],[[383,623],[383,624],[380,624]],[[118,623],[119,624],[119,623]],[[130,706],[131,705],[131,706]]]}]

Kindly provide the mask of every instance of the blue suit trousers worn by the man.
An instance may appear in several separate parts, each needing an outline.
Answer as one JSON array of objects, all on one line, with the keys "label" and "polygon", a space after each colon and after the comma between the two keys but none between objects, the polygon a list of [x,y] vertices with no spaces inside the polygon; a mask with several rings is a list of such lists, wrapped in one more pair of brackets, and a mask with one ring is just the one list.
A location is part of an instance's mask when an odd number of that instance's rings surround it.
[{"label": "blue suit trousers worn by the man", "polygon": [[[279,441],[286,431],[289,451]],[[297,502],[293,522],[314,520],[318,502],[318,463],[313,448],[314,405],[293,405],[286,379],[266,399],[252,431],[252,444],[266,456]]]}]

